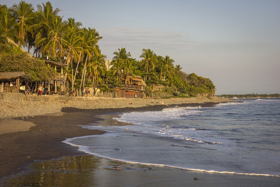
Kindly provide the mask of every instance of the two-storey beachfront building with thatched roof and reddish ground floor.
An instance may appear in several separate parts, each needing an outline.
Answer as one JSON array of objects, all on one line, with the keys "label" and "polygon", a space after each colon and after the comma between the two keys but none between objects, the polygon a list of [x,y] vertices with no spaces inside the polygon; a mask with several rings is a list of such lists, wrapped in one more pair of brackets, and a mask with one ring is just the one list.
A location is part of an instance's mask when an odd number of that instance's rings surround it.
[{"label": "two-storey beachfront building with thatched roof and reddish ground floor", "polygon": [[143,98],[146,83],[140,76],[129,76],[129,82],[123,80],[122,88],[117,88],[117,96],[122,98]]}]

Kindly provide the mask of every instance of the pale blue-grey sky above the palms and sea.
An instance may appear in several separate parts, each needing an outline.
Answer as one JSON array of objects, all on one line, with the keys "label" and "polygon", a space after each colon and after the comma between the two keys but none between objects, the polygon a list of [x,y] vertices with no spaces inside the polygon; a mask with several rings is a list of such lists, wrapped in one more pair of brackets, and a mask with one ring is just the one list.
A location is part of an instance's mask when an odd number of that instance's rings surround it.
[{"label": "pale blue-grey sky above the palms and sea", "polygon": [[[35,9],[46,3],[26,2]],[[182,71],[211,79],[217,95],[280,93],[279,0],[50,2],[63,20],[95,28],[108,60],[121,47],[141,60],[142,49],[150,48]]]}]

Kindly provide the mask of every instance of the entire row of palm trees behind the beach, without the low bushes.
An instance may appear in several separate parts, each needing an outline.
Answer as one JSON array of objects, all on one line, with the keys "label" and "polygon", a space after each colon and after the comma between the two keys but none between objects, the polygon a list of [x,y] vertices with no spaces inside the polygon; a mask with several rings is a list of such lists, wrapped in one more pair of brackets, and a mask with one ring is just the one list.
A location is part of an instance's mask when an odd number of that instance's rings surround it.
[{"label": "entire row of palm trees behind the beach, without the low bushes", "polygon": [[[33,48],[36,58],[50,56],[60,62],[65,57],[65,64],[68,65],[64,71],[65,80],[72,82],[79,90],[88,83],[105,84],[106,77],[112,76],[129,84],[129,76],[136,75],[146,81],[157,79],[152,82],[182,92],[197,86],[190,84],[189,75],[181,71],[180,65],[174,66],[173,59],[158,56],[150,49],[143,49],[139,56],[141,60],[137,61],[122,47],[113,53],[111,68],[107,69],[106,56],[101,54],[98,45],[102,37],[97,30],[82,27],[82,23],[74,18],[63,21],[63,16],[58,16],[60,9],[54,9],[49,1],[36,7],[37,10],[25,1],[12,7],[0,4],[0,49],[12,45],[26,47],[29,52]],[[70,70],[73,69],[72,76]],[[215,92],[211,80],[206,87],[206,92]]]}]

